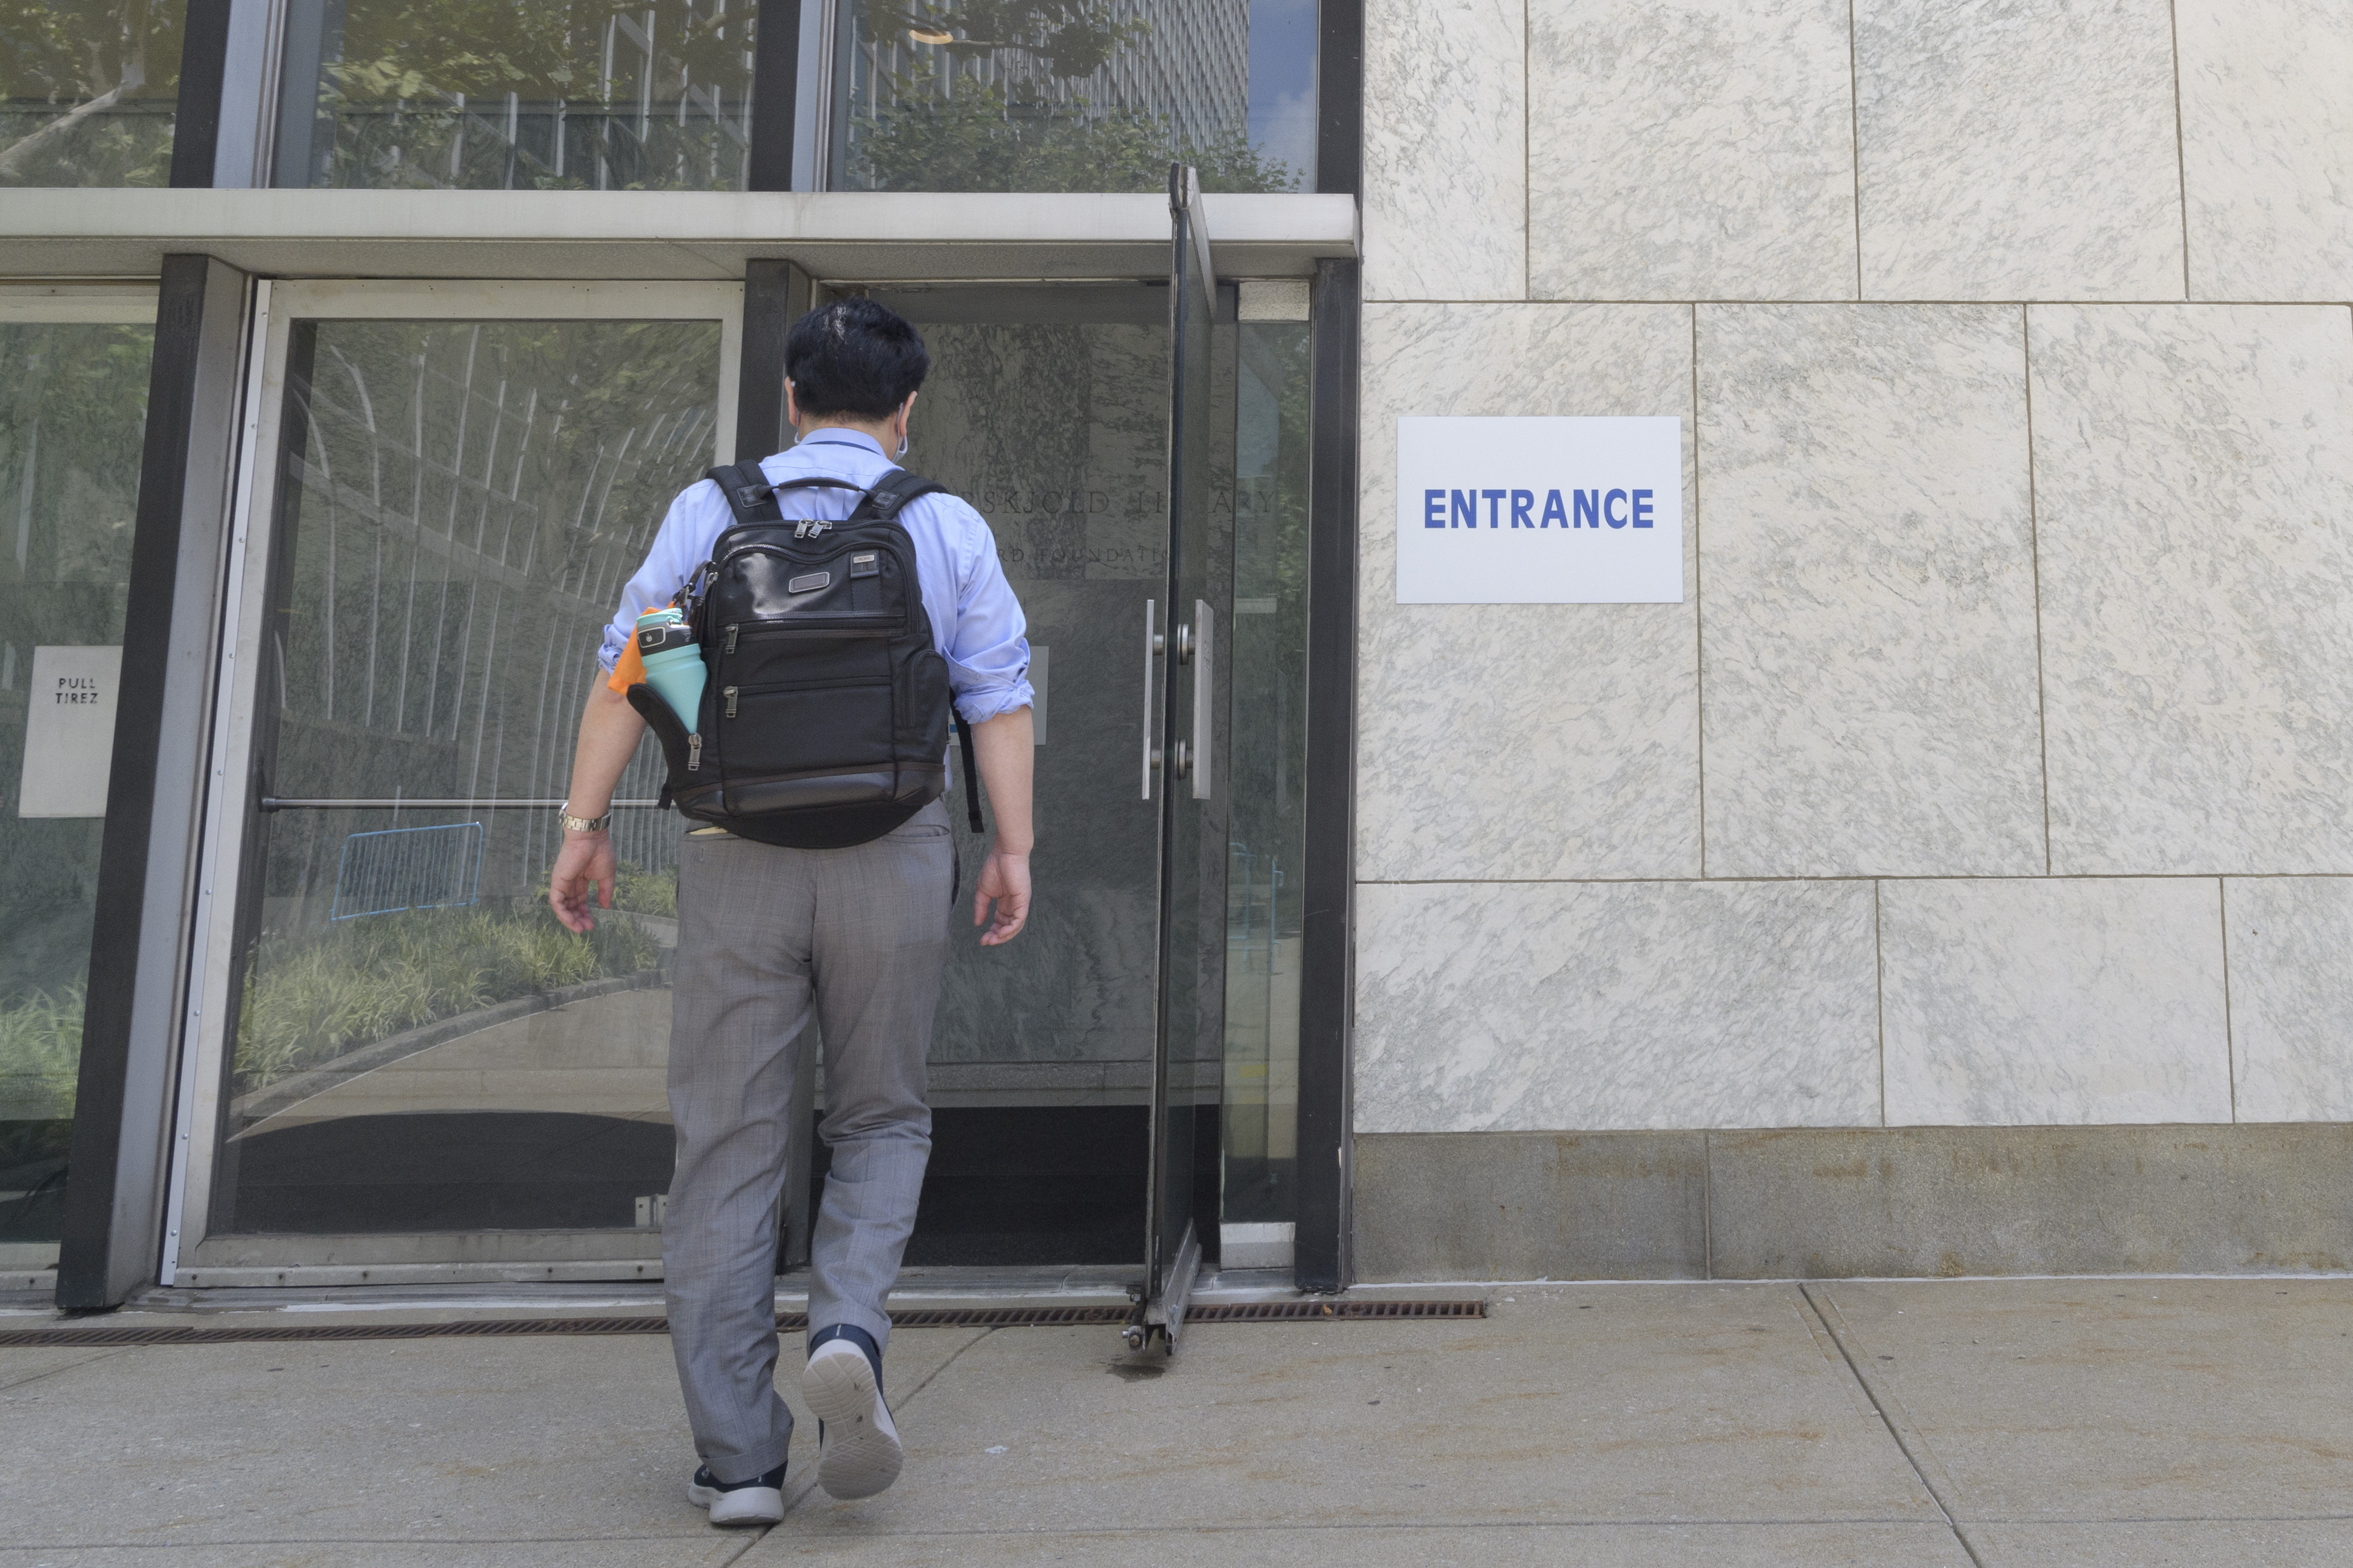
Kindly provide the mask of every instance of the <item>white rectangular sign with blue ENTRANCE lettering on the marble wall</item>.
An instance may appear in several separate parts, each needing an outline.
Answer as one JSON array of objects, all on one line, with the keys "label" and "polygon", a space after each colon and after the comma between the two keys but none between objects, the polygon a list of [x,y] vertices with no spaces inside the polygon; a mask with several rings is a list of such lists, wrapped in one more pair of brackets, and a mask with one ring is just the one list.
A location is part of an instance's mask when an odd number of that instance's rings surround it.
[{"label": "white rectangular sign with blue ENTRANCE lettering on the marble wall", "polygon": [[1682,604],[1682,418],[1400,418],[1398,604]]}]

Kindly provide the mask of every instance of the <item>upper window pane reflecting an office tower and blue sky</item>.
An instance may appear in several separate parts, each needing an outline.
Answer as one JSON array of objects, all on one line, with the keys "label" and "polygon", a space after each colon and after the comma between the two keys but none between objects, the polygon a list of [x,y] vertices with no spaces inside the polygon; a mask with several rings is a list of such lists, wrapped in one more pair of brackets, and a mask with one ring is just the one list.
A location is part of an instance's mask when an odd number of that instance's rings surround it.
[{"label": "upper window pane reflecting an office tower and blue sky", "polygon": [[1315,188],[1315,0],[842,0],[835,190]]}]

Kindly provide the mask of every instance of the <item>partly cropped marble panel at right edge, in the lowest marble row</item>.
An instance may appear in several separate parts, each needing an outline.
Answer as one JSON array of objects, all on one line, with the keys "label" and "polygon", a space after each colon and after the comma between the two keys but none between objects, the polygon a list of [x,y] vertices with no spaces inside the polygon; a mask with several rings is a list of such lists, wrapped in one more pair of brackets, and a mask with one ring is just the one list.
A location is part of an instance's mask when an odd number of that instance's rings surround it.
[{"label": "partly cropped marble panel at right edge, in the lowest marble row", "polygon": [[2240,1121],[2353,1121],[2353,879],[2231,877]]}]

